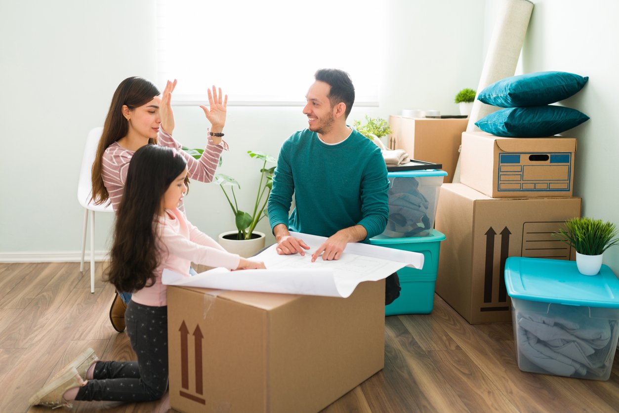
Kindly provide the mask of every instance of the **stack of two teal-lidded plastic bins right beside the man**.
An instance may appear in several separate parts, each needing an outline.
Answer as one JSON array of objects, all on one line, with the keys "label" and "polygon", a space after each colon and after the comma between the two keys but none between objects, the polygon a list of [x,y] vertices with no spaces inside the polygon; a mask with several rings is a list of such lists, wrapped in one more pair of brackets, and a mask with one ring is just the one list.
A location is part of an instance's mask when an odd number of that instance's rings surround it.
[{"label": "stack of two teal-lidded plastic bins right beside the man", "polygon": [[428,314],[434,305],[438,258],[443,233],[434,228],[442,170],[389,172],[389,220],[372,245],[422,253],[422,269],[404,267],[397,274],[400,297],[385,306],[385,315]]}]

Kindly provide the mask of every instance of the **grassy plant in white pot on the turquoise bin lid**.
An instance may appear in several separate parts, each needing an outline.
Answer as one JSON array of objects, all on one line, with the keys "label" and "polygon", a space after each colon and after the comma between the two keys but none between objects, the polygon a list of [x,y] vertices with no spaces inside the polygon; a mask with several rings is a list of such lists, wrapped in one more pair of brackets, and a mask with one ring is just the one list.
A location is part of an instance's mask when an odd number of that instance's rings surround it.
[{"label": "grassy plant in white pot on the turquoise bin lid", "polygon": [[576,217],[566,220],[565,228],[560,228],[553,236],[576,250],[576,266],[581,274],[594,276],[602,267],[604,251],[619,244],[618,233],[612,222]]}]

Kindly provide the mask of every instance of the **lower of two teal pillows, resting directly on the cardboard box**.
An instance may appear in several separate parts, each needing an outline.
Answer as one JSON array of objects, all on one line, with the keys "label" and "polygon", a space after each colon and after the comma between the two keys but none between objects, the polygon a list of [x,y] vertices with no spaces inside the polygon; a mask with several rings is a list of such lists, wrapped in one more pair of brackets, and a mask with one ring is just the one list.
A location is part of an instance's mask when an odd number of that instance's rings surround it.
[{"label": "lower of two teal pillows, resting directly on the cardboard box", "polygon": [[562,106],[501,109],[475,124],[482,131],[502,137],[544,137],[575,128],[589,116]]}]

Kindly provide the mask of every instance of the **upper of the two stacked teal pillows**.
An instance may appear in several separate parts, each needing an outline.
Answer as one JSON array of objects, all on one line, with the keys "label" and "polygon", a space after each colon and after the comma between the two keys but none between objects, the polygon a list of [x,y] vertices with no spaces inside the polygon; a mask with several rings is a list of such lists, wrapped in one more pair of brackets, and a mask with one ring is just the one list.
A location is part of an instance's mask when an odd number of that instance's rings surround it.
[{"label": "upper of the two stacked teal pillows", "polygon": [[542,106],[559,102],[582,89],[589,77],[568,72],[534,72],[506,77],[487,86],[477,98],[501,108]]}]

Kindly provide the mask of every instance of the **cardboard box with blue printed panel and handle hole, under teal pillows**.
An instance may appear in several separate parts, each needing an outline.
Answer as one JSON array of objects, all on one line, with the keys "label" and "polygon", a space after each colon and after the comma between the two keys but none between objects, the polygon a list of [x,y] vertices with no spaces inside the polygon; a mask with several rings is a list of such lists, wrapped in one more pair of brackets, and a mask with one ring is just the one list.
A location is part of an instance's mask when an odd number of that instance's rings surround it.
[{"label": "cardboard box with blue printed panel and handle hole, under teal pillows", "polygon": [[460,181],[493,198],[572,196],[573,137],[462,134]]}]

